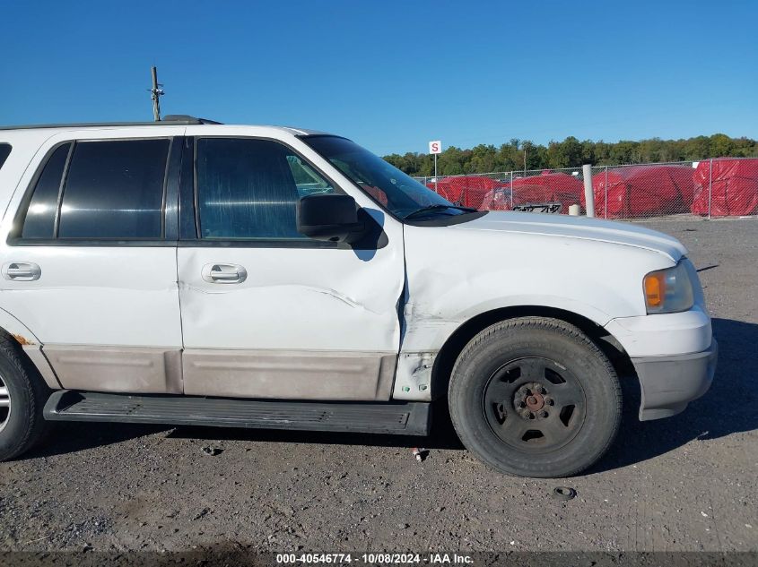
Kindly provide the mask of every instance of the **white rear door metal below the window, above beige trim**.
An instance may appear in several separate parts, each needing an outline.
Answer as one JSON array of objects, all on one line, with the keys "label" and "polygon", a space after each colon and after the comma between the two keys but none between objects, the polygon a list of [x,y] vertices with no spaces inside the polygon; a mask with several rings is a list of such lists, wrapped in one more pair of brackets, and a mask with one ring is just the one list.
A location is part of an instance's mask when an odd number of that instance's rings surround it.
[{"label": "white rear door metal below the window, above beige trim", "polygon": [[176,248],[13,246],[34,281],[2,279],[4,309],[43,344],[181,348]]}]

